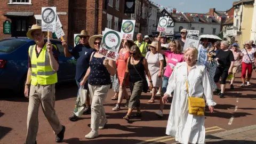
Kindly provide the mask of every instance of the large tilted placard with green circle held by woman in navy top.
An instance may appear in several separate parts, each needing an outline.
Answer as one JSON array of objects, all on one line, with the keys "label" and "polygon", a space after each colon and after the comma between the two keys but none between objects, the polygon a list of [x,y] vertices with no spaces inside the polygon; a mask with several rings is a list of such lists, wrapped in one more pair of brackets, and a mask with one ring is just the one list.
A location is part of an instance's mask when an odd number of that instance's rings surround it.
[{"label": "large tilted placard with green circle held by woman in navy top", "polygon": [[123,34],[108,28],[105,28],[104,33],[100,44],[99,54],[111,60],[116,60]]}]

